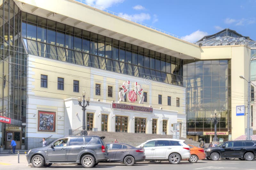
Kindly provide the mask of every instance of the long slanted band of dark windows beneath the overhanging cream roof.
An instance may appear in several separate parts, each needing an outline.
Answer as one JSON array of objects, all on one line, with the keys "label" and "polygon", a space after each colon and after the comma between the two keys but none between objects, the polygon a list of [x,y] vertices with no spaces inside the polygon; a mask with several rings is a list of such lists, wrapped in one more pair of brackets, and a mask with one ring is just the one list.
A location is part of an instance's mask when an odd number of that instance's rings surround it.
[{"label": "long slanted band of dark windows beneath the overhanging cream roof", "polygon": [[28,53],[182,86],[182,60],[22,12]]}]

